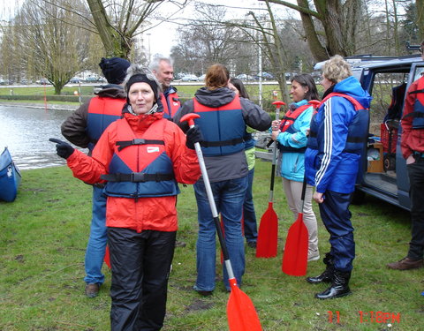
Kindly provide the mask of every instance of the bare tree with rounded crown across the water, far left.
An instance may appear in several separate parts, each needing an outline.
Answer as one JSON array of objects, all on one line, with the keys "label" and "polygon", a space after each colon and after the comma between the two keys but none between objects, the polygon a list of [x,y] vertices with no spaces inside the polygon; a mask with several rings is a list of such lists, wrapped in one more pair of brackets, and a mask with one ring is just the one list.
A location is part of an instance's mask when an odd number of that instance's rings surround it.
[{"label": "bare tree with rounded crown across the water, far left", "polygon": [[[10,63],[19,64],[33,77],[49,79],[55,94],[60,94],[87,59],[89,36],[68,24],[78,20],[70,9],[81,6],[73,0],[62,1],[60,6],[57,0],[27,0],[7,34],[6,42],[11,42],[8,50],[14,56]],[[24,65],[26,68],[22,68]]]}]

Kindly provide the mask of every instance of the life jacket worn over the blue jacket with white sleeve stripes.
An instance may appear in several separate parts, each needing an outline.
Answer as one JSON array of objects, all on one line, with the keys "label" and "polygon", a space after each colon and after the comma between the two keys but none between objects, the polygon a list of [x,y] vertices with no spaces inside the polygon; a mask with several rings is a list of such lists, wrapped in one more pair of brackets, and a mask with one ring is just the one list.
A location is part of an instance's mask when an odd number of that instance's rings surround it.
[{"label": "life jacket worn over the blue jacket with white sleeve stripes", "polygon": [[[343,152],[360,154],[362,148],[364,147],[364,144],[367,142],[368,139],[369,109],[364,109],[360,102],[358,102],[352,96],[335,92],[328,94],[322,100],[321,104],[326,102],[327,99],[332,96],[341,96],[347,99],[349,102],[352,102],[352,105],[356,110],[356,115],[355,117],[353,117],[352,123],[348,127],[346,145]],[[319,107],[321,107],[321,105]],[[308,148],[318,149],[318,142],[316,141],[316,132],[318,132],[317,126],[318,124],[316,123],[316,121],[311,120],[311,128],[307,139]]]}]

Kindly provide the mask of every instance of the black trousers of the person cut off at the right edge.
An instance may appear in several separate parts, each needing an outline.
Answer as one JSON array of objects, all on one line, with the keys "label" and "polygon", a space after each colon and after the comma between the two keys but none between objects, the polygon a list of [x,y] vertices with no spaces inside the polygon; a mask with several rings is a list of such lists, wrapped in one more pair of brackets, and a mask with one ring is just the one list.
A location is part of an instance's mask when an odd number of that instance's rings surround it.
[{"label": "black trousers of the person cut off at the right edge", "polygon": [[406,166],[409,175],[409,197],[411,199],[412,238],[408,258],[420,260],[424,250],[424,158]]}]

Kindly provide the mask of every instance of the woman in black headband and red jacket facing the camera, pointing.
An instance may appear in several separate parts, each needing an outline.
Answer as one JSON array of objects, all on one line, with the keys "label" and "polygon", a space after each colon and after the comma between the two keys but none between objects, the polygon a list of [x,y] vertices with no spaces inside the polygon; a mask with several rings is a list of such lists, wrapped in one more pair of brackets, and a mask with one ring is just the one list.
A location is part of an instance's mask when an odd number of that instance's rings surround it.
[{"label": "woman in black headband and red jacket facing the camera, pointing", "polygon": [[184,134],[163,118],[159,82],[147,68],[130,66],[124,86],[123,117],[106,128],[91,157],[52,141],[74,177],[106,183],[111,330],[157,331],[178,229],[178,183],[201,176],[194,151],[201,132],[194,126]]}]

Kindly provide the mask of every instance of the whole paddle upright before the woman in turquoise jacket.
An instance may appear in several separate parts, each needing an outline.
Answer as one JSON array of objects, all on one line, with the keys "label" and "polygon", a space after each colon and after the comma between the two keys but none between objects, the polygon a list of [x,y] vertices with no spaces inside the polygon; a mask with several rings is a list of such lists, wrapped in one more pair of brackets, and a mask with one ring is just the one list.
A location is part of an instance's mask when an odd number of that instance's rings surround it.
[{"label": "whole paddle upright before the woman in turquoise jacket", "polygon": [[[272,102],[276,105],[276,121],[280,115],[280,107],[284,102]],[[272,141],[272,140],[271,140]],[[258,230],[256,242],[257,258],[276,257],[276,246],[278,240],[278,216],[273,208],[274,201],[274,180],[276,177],[276,143],[272,150],[271,184],[269,189],[268,209],[262,214],[261,223]]]}]

